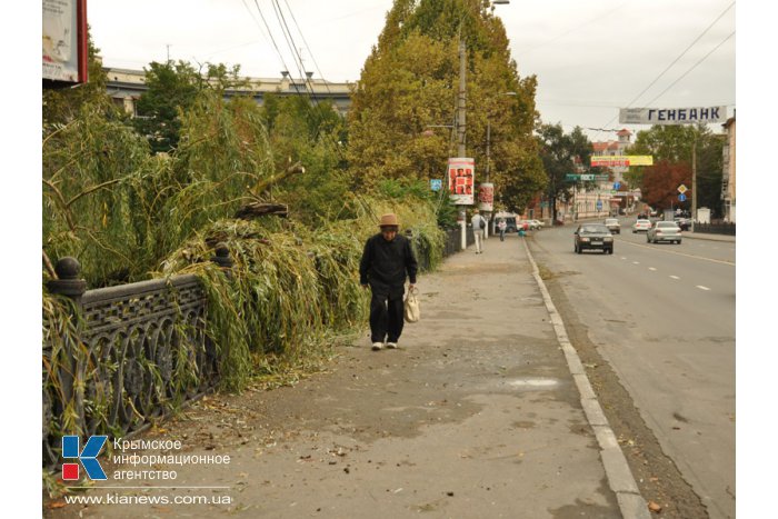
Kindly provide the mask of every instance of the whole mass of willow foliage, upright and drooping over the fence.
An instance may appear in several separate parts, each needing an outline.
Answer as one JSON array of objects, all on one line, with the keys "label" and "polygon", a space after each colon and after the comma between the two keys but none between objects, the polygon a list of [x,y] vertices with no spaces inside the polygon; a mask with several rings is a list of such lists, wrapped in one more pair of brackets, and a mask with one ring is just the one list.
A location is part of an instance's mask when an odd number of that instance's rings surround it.
[{"label": "whole mass of willow foliage, upright and drooping over the fence", "polygon": [[[181,81],[192,83],[188,78]],[[442,259],[438,223],[451,208],[423,181],[386,179],[357,194],[343,171],[343,121],[331,106],[270,98],[259,107],[202,84],[187,110],[178,109],[170,152],[154,152],[100,96],[68,123],[44,127],[43,250],[53,261],[78,258],[90,288],[197,273],[222,383],[237,390],[279,363],[305,365],[365,322],[358,262],[381,213],[399,214],[422,265],[435,268]],[[293,162],[306,172],[273,182]],[[258,201],[287,203],[288,218],[233,218]],[[217,242],[236,260],[230,276],[210,260]],[[47,293],[44,301],[61,303]],[[47,322],[63,326],[67,315]],[[47,337],[59,329],[46,327]]]}]

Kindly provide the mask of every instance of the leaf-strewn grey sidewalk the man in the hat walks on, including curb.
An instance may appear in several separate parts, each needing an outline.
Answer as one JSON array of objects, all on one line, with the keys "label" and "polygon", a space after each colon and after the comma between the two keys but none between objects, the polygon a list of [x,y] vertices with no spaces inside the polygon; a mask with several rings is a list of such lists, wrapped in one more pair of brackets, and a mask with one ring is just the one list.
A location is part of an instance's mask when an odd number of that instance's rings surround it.
[{"label": "leaf-strewn grey sidewalk the man in the hat walks on, including curb", "polygon": [[400,349],[370,351],[366,333],[293,388],[208,398],[146,438],[229,465],[154,467],[176,480],[124,485],[176,488],[113,491],[230,505],[68,505],[47,517],[649,517],[533,272],[515,233],[448,258],[419,278],[421,321]]}]

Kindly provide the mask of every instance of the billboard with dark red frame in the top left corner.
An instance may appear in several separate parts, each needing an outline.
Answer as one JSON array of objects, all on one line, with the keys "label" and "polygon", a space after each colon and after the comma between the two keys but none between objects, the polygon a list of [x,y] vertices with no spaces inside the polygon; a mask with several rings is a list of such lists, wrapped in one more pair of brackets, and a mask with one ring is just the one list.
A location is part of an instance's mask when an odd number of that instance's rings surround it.
[{"label": "billboard with dark red frame in the top left corner", "polygon": [[43,80],[87,82],[86,0],[43,0]]}]

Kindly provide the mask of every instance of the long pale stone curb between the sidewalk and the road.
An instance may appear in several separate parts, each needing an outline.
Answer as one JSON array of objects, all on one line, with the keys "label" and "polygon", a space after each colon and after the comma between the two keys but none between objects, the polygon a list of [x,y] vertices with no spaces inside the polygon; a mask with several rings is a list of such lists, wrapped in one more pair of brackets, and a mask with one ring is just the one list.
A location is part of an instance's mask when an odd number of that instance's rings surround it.
[{"label": "long pale stone curb between the sidewalk and the road", "polygon": [[557,311],[557,308],[553,306],[551,296],[548,293],[548,289],[540,278],[538,266],[529,251],[527,241],[523,242],[523,246],[525,251],[527,252],[527,258],[532,266],[532,277],[538,283],[538,288],[543,297],[543,302],[546,303],[546,309],[550,316],[550,321],[553,326],[553,331],[557,335],[557,340],[559,341],[559,346],[565,353],[565,358],[567,359],[570,375],[572,375],[576,386],[578,387],[578,392],[581,397],[581,406],[584,407],[587,421],[595,431],[597,442],[600,446],[600,459],[602,460],[602,466],[605,467],[608,485],[616,493],[616,499],[619,503],[621,516],[625,519],[650,519],[651,515],[648,511],[648,503],[642,496],[640,496],[640,490],[635,481],[632,471],[629,469],[627,458],[625,458],[624,452],[621,452],[616,435],[614,435],[614,431],[608,423],[608,419],[605,417],[602,408],[597,400],[597,396],[591,389],[591,383],[589,382],[589,378],[586,376],[586,371],[581,365],[580,358],[578,357],[578,352],[570,343],[562,318]]}]

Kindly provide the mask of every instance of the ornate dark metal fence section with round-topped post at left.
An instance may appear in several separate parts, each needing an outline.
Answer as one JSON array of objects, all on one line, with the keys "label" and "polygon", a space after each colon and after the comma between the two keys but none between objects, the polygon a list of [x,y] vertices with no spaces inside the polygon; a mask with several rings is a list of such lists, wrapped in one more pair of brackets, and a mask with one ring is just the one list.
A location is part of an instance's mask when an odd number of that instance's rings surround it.
[{"label": "ornate dark metal fence section with round-topped post at left", "polygon": [[71,271],[60,261],[50,289],[73,299],[78,325],[76,337],[43,345],[47,465],[57,462],[59,432],[126,436],[208,390],[218,376],[197,277],[73,290],[86,283],[68,260]]}]

